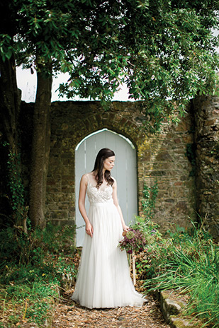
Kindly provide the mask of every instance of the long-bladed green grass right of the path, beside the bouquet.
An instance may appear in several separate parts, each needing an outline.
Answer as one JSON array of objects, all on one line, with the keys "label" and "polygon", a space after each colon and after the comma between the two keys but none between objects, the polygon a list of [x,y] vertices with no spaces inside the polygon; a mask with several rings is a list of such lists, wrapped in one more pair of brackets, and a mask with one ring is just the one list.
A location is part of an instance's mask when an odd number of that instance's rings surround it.
[{"label": "long-bladed green grass right of the path, beside the bouquet", "polygon": [[204,326],[219,327],[219,246],[201,225],[148,245],[137,270],[149,291],[176,290],[189,295],[187,312]]}]

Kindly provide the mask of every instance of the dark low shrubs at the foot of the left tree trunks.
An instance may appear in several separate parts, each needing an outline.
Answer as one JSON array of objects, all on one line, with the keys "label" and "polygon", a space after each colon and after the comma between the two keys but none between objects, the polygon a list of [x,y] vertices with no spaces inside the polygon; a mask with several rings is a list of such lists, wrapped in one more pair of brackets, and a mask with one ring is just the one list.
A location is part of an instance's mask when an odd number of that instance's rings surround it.
[{"label": "dark low shrubs at the foot of the left tree trunks", "polygon": [[44,230],[23,233],[15,227],[0,231],[0,272],[5,264],[42,262],[45,254],[74,252],[75,227],[56,227],[47,223]]}]

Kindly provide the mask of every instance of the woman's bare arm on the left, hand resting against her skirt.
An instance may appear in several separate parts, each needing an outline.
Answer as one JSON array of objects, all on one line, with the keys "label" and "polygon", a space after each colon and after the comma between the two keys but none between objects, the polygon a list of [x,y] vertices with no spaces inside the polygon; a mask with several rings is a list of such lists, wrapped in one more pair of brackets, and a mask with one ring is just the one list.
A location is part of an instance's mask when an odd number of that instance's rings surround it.
[{"label": "woman's bare arm on the left, hand resting against her skirt", "polygon": [[79,189],[79,211],[82,214],[82,217],[84,218],[84,222],[86,224],[85,231],[88,235],[92,237],[94,233],[94,229],[89,221],[85,209],[86,187],[87,187],[87,177],[86,175],[82,175],[82,179],[80,182],[80,189]]}]

